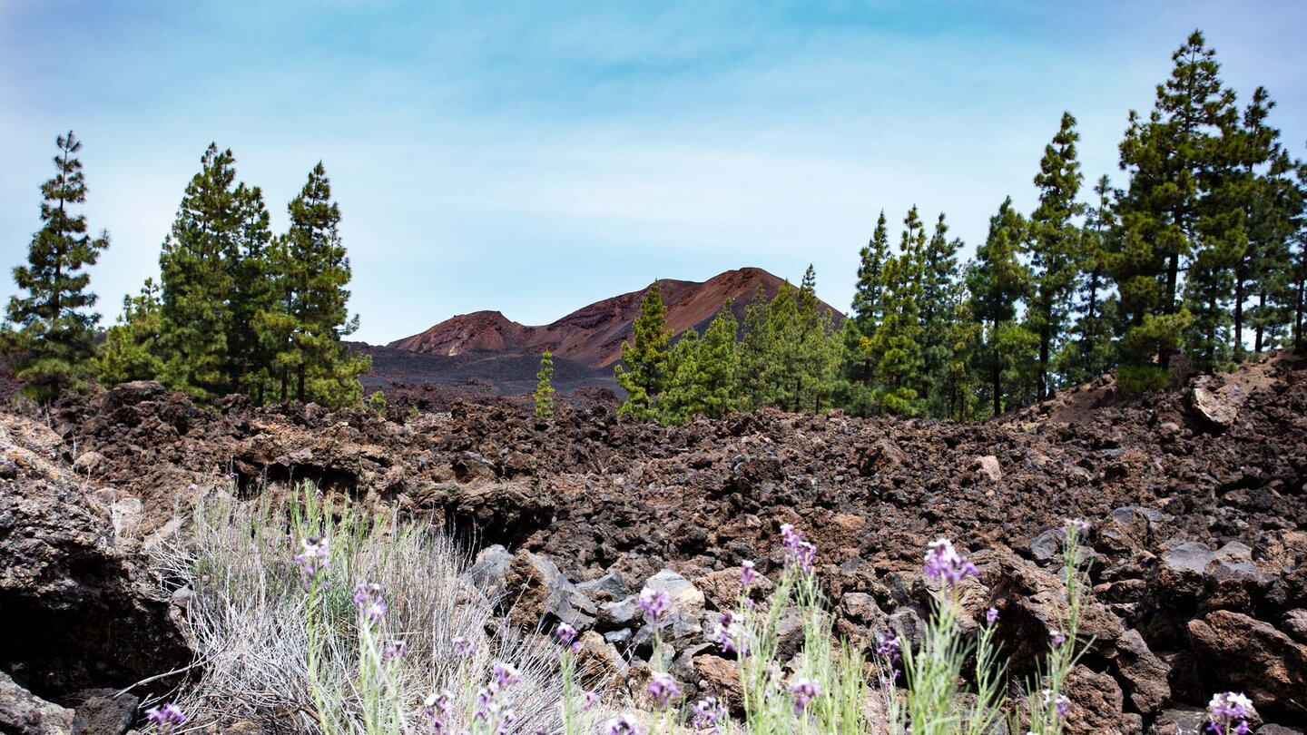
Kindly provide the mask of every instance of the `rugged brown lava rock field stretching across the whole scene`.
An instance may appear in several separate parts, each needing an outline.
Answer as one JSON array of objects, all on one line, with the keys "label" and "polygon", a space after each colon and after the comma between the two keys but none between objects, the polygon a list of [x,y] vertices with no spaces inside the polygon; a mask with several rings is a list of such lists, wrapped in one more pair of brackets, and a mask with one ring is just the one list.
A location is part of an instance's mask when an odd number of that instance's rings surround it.
[{"label": "rugged brown lava rock field stretching across the whole scene", "polygon": [[1260,731],[1307,726],[1303,357],[1149,399],[1102,381],[979,425],[762,411],[661,428],[618,422],[603,396],[552,421],[446,402],[399,422],[235,398],[199,409],[129,383],[0,417],[0,731],[116,711],[105,687],[188,663],[184,606],[145,592],[144,549],[207,488],[254,497],[299,479],[464,535],[484,549],[477,574],[519,600],[506,615],[575,620],[589,655],[627,675],[647,645],[629,595],[664,586],[674,672],[727,697],[733,662],[706,629],[742,560],[779,568],[782,523],[818,544],[855,640],[920,625],[920,557],[951,538],[980,568],[968,612],[999,608],[1023,676],[1056,620],[1056,530],[1085,518],[1093,642],[1070,731],[1192,732],[1225,689],[1253,698]]}]

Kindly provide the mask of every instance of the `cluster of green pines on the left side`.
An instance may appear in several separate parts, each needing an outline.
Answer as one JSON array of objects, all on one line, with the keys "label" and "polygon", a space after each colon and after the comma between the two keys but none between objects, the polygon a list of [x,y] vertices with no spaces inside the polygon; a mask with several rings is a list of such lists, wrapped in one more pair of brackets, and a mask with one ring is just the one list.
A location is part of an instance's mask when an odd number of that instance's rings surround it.
[{"label": "cluster of green pines on the left side", "polygon": [[322,163],[290,203],[288,230],[274,235],[263,192],[238,183],[231,152],[210,145],[163,241],[158,282],[146,279],[123,299],[97,347],[99,314],[88,311],[95,296],[84,268],[108,235],[89,237],[73,212],[86,200],[81,143],[69,132],[58,145],[42,228],[13,273],[24,293],[10,299],[0,335],[29,396],[52,400],[95,377],[158,379],[205,402],[239,392],[257,404],[359,403],[370,361],[342,341],[358,318],[346,310],[350,265]]}]

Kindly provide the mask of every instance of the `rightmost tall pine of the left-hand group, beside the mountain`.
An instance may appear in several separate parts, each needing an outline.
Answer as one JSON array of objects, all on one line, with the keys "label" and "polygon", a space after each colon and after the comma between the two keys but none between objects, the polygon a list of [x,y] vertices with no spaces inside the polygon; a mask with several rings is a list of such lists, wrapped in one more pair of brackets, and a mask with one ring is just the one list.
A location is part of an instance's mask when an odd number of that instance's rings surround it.
[{"label": "rightmost tall pine of the left-hand group, beside the mountain", "polygon": [[[289,319],[260,319],[274,335],[291,327],[273,358],[282,399],[293,383],[295,400],[327,407],[356,404],[362,395],[358,377],[371,362],[366,356],[350,354],[344,343],[358,330],[358,316],[350,316],[348,310],[349,258],[340,239],[340,207],[332,201],[322,162],[308,173],[288,209],[290,228],[271,260],[285,281],[274,296]],[[267,330],[269,324],[282,330]]]}]

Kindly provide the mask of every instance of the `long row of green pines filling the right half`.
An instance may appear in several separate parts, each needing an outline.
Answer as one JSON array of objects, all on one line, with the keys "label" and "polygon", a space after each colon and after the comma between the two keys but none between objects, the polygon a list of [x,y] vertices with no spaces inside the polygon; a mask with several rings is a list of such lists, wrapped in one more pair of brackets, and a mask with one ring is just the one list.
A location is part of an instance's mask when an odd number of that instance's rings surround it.
[{"label": "long row of green pines filling the right half", "polygon": [[838,330],[809,267],[799,289],[755,298],[744,324],[727,305],[704,335],[670,345],[655,282],[617,368],[620,412],[680,422],[838,405],[975,420],[1110,371],[1128,391],[1159,390],[1178,371],[1300,347],[1307,166],[1269,124],[1265,89],[1238,107],[1201,33],[1172,60],[1153,111],[1129,114],[1124,187],[1104,175],[1084,191],[1064,114],[1036,207],[1008,197],[972,260],[958,263],[944,214],[928,233],[912,207],[894,247],[882,212]]}]

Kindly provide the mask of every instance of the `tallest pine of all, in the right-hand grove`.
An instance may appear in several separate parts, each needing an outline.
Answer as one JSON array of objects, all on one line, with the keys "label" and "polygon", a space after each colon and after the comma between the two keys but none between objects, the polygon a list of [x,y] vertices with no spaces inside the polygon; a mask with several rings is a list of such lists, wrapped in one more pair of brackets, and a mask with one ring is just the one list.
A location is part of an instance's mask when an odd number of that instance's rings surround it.
[{"label": "tallest pine of all, in the right-hand grove", "polygon": [[[1182,265],[1222,234],[1204,220],[1219,183],[1210,173],[1226,166],[1221,137],[1234,115],[1234,93],[1221,86],[1216,54],[1200,31],[1171,59],[1175,67],[1157,88],[1153,112],[1145,120],[1132,110],[1120,145],[1121,169],[1131,180],[1120,199],[1125,235],[1110,263],[1123,319],[1117,378],[1141,390],[1166,383],[1170,352],[1192,322],[1178,299]],[[1219,260],[1206,258],[1201,265],[1210,269]],[[1199,328],[1208,332],[1210,326]]]}]

